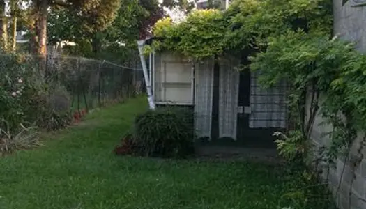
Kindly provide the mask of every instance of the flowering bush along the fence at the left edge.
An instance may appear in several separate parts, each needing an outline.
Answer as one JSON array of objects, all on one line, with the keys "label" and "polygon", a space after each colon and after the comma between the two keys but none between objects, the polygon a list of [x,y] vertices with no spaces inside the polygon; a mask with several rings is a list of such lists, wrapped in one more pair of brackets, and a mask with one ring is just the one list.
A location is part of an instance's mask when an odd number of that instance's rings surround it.
[{"label": "flowering bush along the fence at the left edge", "polygon": [[[66,90],[46,84],[36,63],[24,56],[3,55],[0,65],[0,128],[20,132],[20,124],[36,123],[47,130],[70,124],[70,102]],[[63,106],[63,107],[61,107]]]}]

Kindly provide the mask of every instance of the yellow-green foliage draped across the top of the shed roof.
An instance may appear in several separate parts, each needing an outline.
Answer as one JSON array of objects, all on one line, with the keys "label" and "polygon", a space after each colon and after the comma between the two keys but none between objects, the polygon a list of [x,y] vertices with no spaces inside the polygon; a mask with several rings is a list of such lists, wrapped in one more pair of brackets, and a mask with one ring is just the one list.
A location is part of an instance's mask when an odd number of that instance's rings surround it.
[{"label": "yellow-green foliage draped across the top of the shed roof", "polygon": [[183,22],[160,20],[153,34],[155,50],[167,49],[201,59],[215,54],[266,49],[268,38],[287,31],[329,34],[330,0],[236,0],[228,10],[197,10]]}]

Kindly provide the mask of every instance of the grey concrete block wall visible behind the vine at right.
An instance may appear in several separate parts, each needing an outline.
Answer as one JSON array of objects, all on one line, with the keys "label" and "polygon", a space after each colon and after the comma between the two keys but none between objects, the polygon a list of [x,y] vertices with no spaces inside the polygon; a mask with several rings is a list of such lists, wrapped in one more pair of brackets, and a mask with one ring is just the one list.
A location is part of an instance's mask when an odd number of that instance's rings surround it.
[{"label": "grey concrete block wall visible behind the vine at right", "polygon": [[[333,0],[334,34],[344,40],[356,42],[356,49],[366,52],[366,5],[362,6],[360,3],[366,3],[366,0],[349,0],[344,6],[342,0]],[[332,127],[321,125],[323,121],[324,118],[320,115],[315,118],[311,136],[314,148],[330,144],[330,140],[323,134],[332,131]],[[352,162],[357,158],[360,140],[364,136],[363,133],[358,135],[348,160],[340,157],[335,160],[337,165],[329,173],[326,173],[327,169],[324,170],[324,177],[328,176],[330,189],[341,209],[366,209],[366,159],[362,160],[358,168],[352,167]],[[366,156],[365,150],[363,153]],[[336,195],[337,190],[339,192]]]}]

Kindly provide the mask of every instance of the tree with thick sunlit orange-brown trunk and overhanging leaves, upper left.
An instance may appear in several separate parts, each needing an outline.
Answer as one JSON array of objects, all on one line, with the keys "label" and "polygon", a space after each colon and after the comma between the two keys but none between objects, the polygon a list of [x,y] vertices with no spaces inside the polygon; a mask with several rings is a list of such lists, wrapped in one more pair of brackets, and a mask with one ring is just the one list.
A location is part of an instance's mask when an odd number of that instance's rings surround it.
[{"label": "tree with thick sunlit orange-brown trunk and overhanging leaves, upper left", "polygon": [[32,0],[29,21],[30,31],[34,31],[33,41],[36,42],[33,52],[41,59],[47,56],[47,19],[48,8],[64,8],[70,11],[72,18],[81,24],[85,33],[98,33],[107,28],[116,15],[120,5],[119,0]]}]

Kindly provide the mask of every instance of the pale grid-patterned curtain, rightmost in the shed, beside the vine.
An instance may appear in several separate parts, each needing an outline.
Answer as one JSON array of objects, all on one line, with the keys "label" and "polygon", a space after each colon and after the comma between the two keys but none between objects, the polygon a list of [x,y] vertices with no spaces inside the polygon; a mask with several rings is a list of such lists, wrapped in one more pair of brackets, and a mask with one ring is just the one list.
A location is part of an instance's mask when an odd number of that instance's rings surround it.
[{"label": "pale grid-patterned curtain, rightmost in the shed, beside the vine", "polygon": [[252,73],[250,82],[250,107],[252,113],[249,118],[250,128],[285,128],[287,122],[286,111],[286,83],[280,82],[272,88],[261,88],[259,72]]}]

